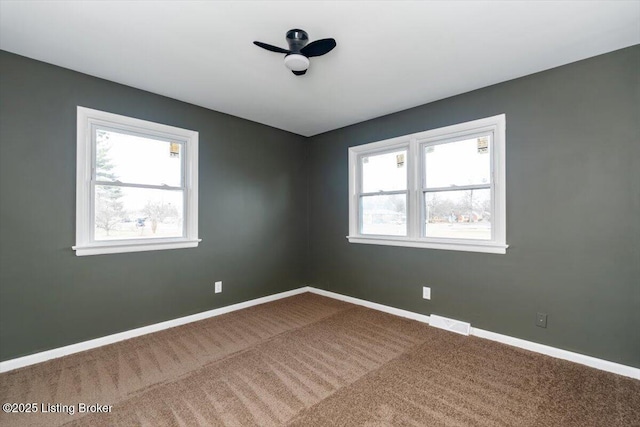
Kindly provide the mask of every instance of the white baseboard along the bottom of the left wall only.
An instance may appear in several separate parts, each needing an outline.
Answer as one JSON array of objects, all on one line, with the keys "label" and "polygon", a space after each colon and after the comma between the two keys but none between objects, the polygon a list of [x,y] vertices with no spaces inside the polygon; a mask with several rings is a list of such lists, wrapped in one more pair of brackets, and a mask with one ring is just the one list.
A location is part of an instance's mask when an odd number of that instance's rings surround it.
[{"label": "white baseboard along the bottom of the left wall only", "polygon": [[149,326],[143,326],[141,328],[131,329],[129,331],[120,332],[113,335],[107,335],[105,337],[92,339],[89,341],[79,342],[77,344],[71,344],[64,347],[54,348],[52,350],[43,351],[40,353],[30,354],[24,357],[18,357],[16,359],[0,362],[0,373],[12,371],[14,369],[22,368],[25,366],[33,365],[40,362],[45,362],[51,359],[57,359],[58,357],[67,356],[73,353],[79,353],[85,350],[91,350],[92,348],[101,347],[107,344],[113,344],[118,341],[128,340],[130,338],[139,337],[141,335],[150,334],[152,332],[162,331],[164,329],[173,328],[187,323],[196,322],[198,320],[208,319],[209,317],[220,316],[221,314],[230,313],[236,310],[242,310],[243,308],[252,307],[254,305],[264,304],[266,302],[275,301],[281,298],[287,298],[293,295],[302,294],[308,292],[308,287],[302,287],[287,292],[281,292],[279,294],[268,295],[262,298],[256,298],[250,301],[241,302],[238,304],[228,305],[226,307],[220,307],[209,311],[203,311],[202,313],[192,314],[190,316],[180,317],[173,320],[167,320],[166,322],[155,323]]}]

